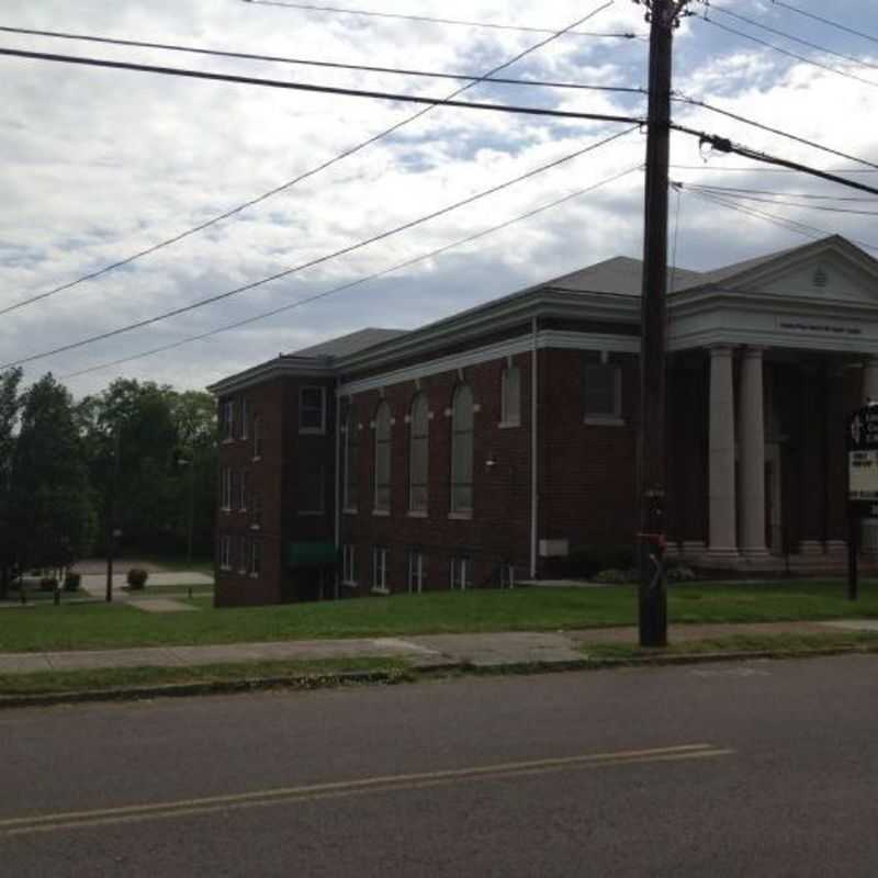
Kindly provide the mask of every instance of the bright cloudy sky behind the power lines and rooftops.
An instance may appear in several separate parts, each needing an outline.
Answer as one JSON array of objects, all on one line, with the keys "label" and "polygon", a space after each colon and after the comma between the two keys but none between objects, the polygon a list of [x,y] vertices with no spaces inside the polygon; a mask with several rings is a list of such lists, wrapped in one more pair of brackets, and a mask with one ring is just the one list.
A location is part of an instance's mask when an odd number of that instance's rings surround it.
[{"label": "bright cloudy sky behind the power lines and rooftops", "polygon": [[[789,9],[829,16],[878,37],[878,23],[863,14],[867,3],[785,3],[724,0],[708,8],[691,2],[697,14],[684,19],[675,32],[676,94],[878,164],[874,123],[878,40]],[[601,0],[331,3],[553,32],[601,4]],[[615,0],[579,30],[633,33],[634,38],[567,34],[528,54],[502,76],[643,88],[649,52],[644,11],[631,0]],[[10,4],[0,25],[474,77],[549,36],[244,0],[34,0]],[[803,59],[733,34],[729,27]],[[0,46],[442,98],[464,85],[7,33],[0,33]],[[256,199],[421,109],[8,56],[0,56],[0,309]],[[645,114],[645,99],[637,93],[480,83],[460,99],[635,119]],[[700,106],[676,102],[674,119],[813,167],[859,168],[866,172],[851,175],[852,179],[878,185],[878,173],[862,165]],[[25,365],[25,379],[30,382],[52,371],[77,397],[100,391],[120,375],[203,389],[280,352],[363,326],[414,328],[614,256],[639,258],[643,175],[637,169],[644,158],[644,134],[635,128],[596,146],[626,127],[431,109],[394,134],[226,221],[0,315],[0,364],[322,259],[589,145],[595,148],[578,158],[345,256],[187,314],[36,359]],[[206,339],[112,364],[382,272],[628,169],[635,170],[382,278]],[[672,257],[682,267],[714,268],[809,239],[763,217],[706,201],[690,184],[765,192],[754,195],[765,202],[736,203],[819,229],[809,233],[812,237],[822,230],[878,245],[869,215],[878,202],[796,199],[801,194],[868,198],[864,193],[711,154],[696,138],[680,134],[672,138],[671,173],[684,184],[682,193],[675,190],[671,196],[669,232]],[[778,201],[792,205],[769,203]],[[860,213],[815,210],[815,205]],[[878,256],[878,250],[870,252]]]}]

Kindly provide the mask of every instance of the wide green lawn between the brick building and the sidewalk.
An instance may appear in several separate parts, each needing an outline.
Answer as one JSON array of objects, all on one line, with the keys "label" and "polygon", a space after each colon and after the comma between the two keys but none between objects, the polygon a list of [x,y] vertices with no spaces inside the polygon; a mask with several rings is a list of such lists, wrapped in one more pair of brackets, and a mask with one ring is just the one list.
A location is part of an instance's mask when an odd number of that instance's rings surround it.
[{"label": "wide green lawn between the brick building and the sidewalk", "polygon": [[[673,623],[878,618],[878,582],[856,604],[841,581],[687,584],[671,588]],[[0,611],[0,652],[240,643],[466,631],[603,628],[635,624],[632,586],[437,592],[390,598],[147,614],[123,604],[35,606]]]}]

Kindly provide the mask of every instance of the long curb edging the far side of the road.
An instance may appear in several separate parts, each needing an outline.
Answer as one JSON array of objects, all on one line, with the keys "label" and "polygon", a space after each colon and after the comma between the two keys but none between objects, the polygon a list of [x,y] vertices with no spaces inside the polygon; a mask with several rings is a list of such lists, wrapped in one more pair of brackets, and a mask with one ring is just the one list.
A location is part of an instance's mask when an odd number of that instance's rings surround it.
[{"label": "long curb edging the far side of the road", "polygon": [[589,657],[556,662],[507,662],[498,665],[477,665],[468,661],[449,661],[402,671],[342,671],[336,674],[304,674],[299,676],[252,677],[237,680],[205,683],[175,683],[164,686],[117,687],[113,689],[86,689],[69,693],[41,693],[38,695],[0,695],[0,711],[22,707],[54,707],[105,701],[140,701],[156,698],[185,698],[200,695],[238,695],[288,689],[308,691],[315,689],[359,686],[368,684],[396,685],[421,679],[449,677],[454,673],[472,676],[506,676],[527,674],[554,674],[569,671],[601,671],[621,667],[666,667],[674,665],[701,665],[718,662],[764,661],[784,658],[820,658],[833,655],[875,655],[878,645],[853,644],[811,650],[751,650],[706,652],[680,655],[642,655],[628,658]]}]

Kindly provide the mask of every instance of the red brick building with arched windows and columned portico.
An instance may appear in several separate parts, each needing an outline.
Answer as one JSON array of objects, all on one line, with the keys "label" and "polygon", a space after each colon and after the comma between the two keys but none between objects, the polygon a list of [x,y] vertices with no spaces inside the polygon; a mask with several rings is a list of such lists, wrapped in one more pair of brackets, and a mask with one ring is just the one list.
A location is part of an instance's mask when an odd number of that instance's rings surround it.
[{"label": "red brick building with arched windows and columned portico", "polygon": [[[217,604],[505,586],[630,544],[640,283],[619,257],[213,385]],[[668,351],[669,554],[841,564],[843,421],[878,398],[878,262],[834,236],[677,269]]]}]

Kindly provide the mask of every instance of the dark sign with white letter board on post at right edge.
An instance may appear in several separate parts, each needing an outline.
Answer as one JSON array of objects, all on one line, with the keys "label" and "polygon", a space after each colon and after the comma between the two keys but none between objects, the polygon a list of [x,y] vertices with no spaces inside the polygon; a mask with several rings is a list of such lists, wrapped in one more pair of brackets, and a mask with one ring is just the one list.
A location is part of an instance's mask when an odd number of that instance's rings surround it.
[{"label": "dark sign with white letter board on post at right edge", "polygon": [[847,420],[847,597],[859,590],[859,531],[878,517],[878,404],[858,408]]}]

